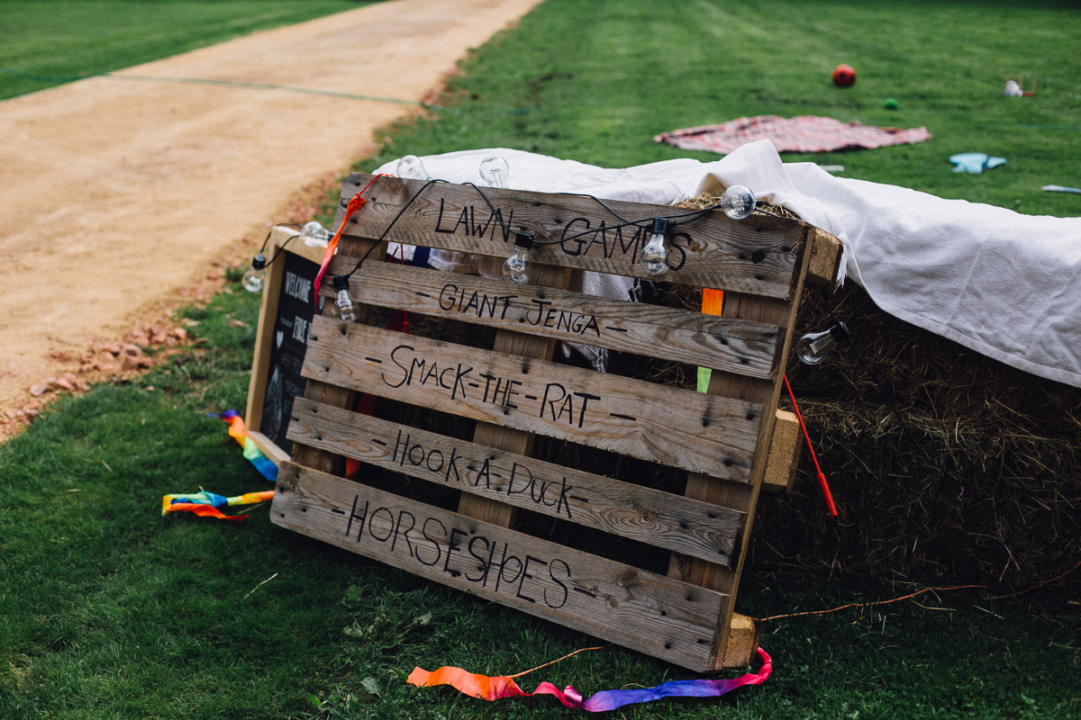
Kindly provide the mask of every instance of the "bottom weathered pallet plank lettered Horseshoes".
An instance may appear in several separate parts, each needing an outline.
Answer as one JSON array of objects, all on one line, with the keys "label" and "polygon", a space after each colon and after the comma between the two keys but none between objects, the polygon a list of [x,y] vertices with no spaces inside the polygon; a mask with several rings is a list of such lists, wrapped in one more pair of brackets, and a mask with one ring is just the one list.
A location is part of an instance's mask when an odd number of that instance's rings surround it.
[{"label": "bottom weathered pallet plank lettered Horseshoes", "polygon": [[279,475],[271,520],[683,667],[711,669],[723,593],[292,463]]}]

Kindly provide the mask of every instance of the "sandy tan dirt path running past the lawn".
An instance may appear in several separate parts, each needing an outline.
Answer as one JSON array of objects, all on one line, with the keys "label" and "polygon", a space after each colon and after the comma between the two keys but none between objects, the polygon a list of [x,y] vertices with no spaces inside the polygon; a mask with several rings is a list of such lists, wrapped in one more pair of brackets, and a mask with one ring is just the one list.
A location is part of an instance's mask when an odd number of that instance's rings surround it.
[{"label": "sandy tan dirt path running past the lawn", "polygon": [[0,103],[0,435],[418,112],[334,93],[421,100],[537,2],[391,0],[119,73],[328,94],[92,78]]}]

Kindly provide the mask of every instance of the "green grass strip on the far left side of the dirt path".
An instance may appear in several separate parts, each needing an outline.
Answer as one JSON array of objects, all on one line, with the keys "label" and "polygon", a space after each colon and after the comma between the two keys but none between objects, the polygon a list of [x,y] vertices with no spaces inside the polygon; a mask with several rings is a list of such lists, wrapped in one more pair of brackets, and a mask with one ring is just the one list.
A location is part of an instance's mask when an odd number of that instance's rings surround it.
[{"label": "green grass strip on the far left side of the dirt path", "polygon": [[0,0],[0,99],[360,4],[351,0]]}]

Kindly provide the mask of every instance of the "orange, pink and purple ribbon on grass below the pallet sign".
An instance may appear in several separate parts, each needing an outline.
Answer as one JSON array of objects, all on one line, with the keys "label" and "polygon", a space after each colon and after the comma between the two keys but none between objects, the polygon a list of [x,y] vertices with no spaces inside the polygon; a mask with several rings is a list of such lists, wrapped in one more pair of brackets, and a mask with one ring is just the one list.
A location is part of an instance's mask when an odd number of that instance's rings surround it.
[{"label": "orange, pink and purple ribbon on grass below the pallet sign", "polygon": [[410,684],[417,688],[433,685],[451,685],[459,692],[485,701],[496,701],[504,697],[530,697],[532,695],[555,695],[565,707],[586,710],[587,712],[608,712],[624,705],[636,703],[652,703],[664,697],[717,697],[743,685],[760,685],[773,671],[773,660],[758,649],[762,667],[758,673],[748,673],[729,680],[672,680],[663,682],[655,688],[639,690],[602,690],[583,699],[582,693],[568,685],[562,691],[550,682],[542,682],[531,693],[522,691],[510,677],[489,677],[472,675],[461,667],[441,667],[438,670],[415,668],[409,676]]}]

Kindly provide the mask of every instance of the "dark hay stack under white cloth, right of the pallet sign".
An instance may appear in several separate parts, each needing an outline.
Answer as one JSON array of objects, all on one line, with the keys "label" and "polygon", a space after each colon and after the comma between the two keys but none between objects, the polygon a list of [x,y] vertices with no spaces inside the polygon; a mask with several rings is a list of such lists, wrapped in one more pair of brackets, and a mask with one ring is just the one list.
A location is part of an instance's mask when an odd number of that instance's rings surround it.
[{"label": "dark hay stack under white cloth, right of the pallet sign", "polygon": [[755,558],[1013,589],[1081,559],[1081,389],[897,320],[851,283],[809,294],[797,335],[831,307],[854,348],[791,357],[788,377],[841,515],[825,515],[804,453],[797,492],[761,503]]}]

